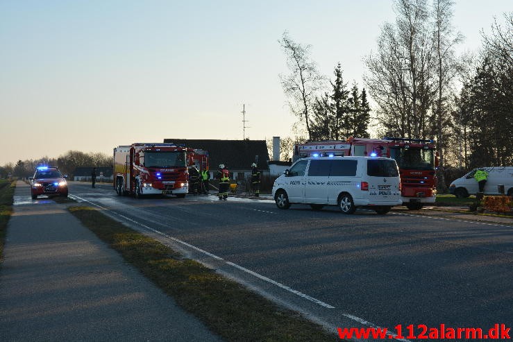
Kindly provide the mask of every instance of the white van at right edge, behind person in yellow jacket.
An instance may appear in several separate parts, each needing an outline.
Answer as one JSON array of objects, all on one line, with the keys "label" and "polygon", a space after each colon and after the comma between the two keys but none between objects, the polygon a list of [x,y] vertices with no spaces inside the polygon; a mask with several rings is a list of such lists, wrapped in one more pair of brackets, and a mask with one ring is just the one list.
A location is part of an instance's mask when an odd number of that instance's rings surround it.
[{"label": "white van at right edge, behind person in yellow jacket", "polygon": [[473,169],[462,178],[453,180],[449,187],[449,192],[456,195],[457,198],[465,198],[475,195],[479,191],[479,185],[474,174],[478,170],[484,170],[488,173],[485,184],[485,195],[498,195],[498,185],[504,185],[504,192],[507,196],[513,196],[513,166],[491,166]]}]

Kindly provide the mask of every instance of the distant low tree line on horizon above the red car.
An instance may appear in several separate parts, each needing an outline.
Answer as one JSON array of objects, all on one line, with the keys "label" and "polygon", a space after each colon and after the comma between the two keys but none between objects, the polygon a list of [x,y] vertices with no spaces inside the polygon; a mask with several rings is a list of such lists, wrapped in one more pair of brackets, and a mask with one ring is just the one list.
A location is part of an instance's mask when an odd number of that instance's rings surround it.
[{"label": "distant low tree line on horizon above the red car", "polygon": [[8,163],[0,166],[0,178],[7,178],[9,173],[14,177],[28,178],[33,176],[35,168],[41,165],[57,166],[63,174],[73,178],[75,169],[80,166],[112,166],[112,157],[105,153],[67,151],[57,158],[42,157],[37,160],[18,160],[16,164]]}]

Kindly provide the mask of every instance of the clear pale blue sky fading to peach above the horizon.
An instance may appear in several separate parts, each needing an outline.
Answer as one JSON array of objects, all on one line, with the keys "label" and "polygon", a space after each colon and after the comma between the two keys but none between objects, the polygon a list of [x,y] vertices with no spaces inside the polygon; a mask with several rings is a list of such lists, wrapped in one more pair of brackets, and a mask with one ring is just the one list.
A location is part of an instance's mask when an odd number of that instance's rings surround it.
[{"label": "clear pale blue sky fading to peach above the horizon", "polygon": [[[476,51],[511,0],[457,0],[453,24]],[[165,138],[292,135],[278,74],[283,32],[320,71],[362,87],[362,58],[389,0],[0,0],[0,165],[66,151],[112,153]]]}]

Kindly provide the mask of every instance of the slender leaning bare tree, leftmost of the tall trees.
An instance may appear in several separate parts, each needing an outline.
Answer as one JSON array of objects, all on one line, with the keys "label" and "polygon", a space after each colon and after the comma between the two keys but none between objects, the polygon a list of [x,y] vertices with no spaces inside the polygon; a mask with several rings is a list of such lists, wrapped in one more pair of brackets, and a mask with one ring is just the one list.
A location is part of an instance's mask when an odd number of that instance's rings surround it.
[{"label": "slender leaning bare tree, leftmost of the tall trees", "polygon": [[294,42],[285,31],[280,45],[287,56],[288,75],[280,74],[283,91],[289,99],[289,107],[300,120],[304,120],[308,138],[312,139],[310,115],[315,95],[323,86],[323,77],[310,59],[310,45],[303,46]]}]

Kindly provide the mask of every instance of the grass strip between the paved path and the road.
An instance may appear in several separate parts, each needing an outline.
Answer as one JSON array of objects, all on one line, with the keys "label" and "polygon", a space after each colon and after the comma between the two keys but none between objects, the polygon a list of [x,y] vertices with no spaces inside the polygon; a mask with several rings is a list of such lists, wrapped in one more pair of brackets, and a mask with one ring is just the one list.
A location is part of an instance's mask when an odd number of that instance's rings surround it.
[{"label": "grass strip between the paved path and the road", "polygon": [[278,307],[159,241],[92,207],[69,207],[82,223],[160,289],[227,341],[341,341],[294,311]]}]

